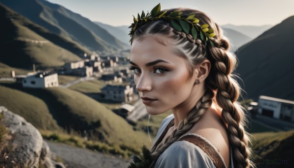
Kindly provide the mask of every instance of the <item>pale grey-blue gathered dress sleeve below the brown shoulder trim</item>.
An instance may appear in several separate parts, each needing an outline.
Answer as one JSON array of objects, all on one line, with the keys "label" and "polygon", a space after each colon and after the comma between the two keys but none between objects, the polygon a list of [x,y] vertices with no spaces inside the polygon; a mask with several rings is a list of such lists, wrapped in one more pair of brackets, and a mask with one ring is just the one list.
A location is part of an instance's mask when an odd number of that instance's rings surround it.
[{"label": "pale grey-blue gathered dress sleeve below the brown shoulder trim", "polygon": [[209,156],[198,146],[178,141],[158,158],[155,168],[216,168]]}]

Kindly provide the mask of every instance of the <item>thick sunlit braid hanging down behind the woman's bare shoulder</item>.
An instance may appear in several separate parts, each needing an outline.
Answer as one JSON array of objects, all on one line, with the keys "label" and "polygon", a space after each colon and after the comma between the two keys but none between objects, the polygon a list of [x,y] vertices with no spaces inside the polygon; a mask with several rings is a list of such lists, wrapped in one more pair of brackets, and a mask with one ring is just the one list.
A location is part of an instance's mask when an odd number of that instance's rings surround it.
[{"label": "thick sunlit braid hanging down behind the woman's bare shoulder", "polygon": [[226,51],[228,43],[222,39],[220,46],[226,48],[209,48],[209,55],[214,61],[212,67],[215,68],[208,79],[209,82],[218,88],[217,102],[222,108],[222,120],[228,125],[229,140],[233,145],[234,158],[237,168],[248,168],[250,149],[248,148],[249,138],[244,130],[244,112],[237,102],[240,95],[238,83],[231,77],[231,72],[235,69],[235,56]]}]

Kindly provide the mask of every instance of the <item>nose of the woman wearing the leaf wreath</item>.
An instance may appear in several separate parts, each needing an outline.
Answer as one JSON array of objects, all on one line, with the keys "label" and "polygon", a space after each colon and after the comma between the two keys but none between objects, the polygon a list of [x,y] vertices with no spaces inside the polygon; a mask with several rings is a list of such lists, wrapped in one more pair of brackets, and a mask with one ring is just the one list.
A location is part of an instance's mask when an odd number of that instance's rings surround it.
[{"label": "nose of the woman wearing the leaf wreath", "polygon": [[140,76],[135,77],[135,82],[138,92],[148,92],[152,89],[152,80],[148,74],[141,73]]}]

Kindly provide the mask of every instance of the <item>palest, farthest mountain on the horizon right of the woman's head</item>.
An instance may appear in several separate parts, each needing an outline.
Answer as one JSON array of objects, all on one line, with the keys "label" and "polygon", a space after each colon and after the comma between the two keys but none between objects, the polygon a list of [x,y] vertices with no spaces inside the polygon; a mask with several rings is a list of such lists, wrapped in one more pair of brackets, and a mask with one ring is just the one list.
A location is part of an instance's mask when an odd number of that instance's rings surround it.
[{"label": "palest, farthest mountain on the horizon right of the woman's head", "polygon": [[263,32],[268,30],[272,25],[266,24],[261,26],[255,26],[255,25],[233,25],[233,24],[224,24],[221,25],[223,28],[230,28],[236,31],[239,31],[247,36],[249,36],[251,39],[255,39],[257,36],[261,35]]}]

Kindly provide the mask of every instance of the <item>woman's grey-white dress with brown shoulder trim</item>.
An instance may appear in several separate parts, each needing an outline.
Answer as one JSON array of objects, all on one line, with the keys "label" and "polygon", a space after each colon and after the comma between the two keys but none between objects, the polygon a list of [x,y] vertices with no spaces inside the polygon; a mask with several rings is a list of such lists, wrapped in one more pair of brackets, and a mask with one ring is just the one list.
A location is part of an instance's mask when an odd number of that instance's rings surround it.
[{"label": "woman's grey-white dress with brown shoulder trim", "polygon": [[[165,134],[167,131],[167,126],[170,126],[171,121],[173,120],[173,115],[170,115],[165,120],[162,121],[161,126],[159,127],[157,136],[155,138],[154,143],[151,147],[154,145],[158,145],[159,142],[158,139],[162,138],[162,134]],[[204,137],[198,135],[198,134],[188,134],[183,136],[187,137],[190,136],[192,139],[198,139],[200,144],[205,144],[204,148],[203,145],[196,145],[194,143],[185,141],[185,140],[179,140],[174,142],[171,146],[169,146],[158,158],[155,168],[216,168],[215,164],[217,156],[219,165],[221,164],[222,168],[225,167],[225,163],[223,158],[221,157],[220,152],[218,149],[211,144],[207,139]],[[206,150],[205,146],[210,146],[210,151]],[[206,152],[204,150],[206,150]],[[213,154],[211,154],[213,153]],[[232,153],[232,152],[230,152]],[[213,159],[213,160],[212,160]],[[232,155],[231,155],[231,164],[232,164]],[[218,164],[216,164],[218,165]],[[219,166],[218,166],[219,167]],[[231,168],[233,167],[230,166]]]}]

